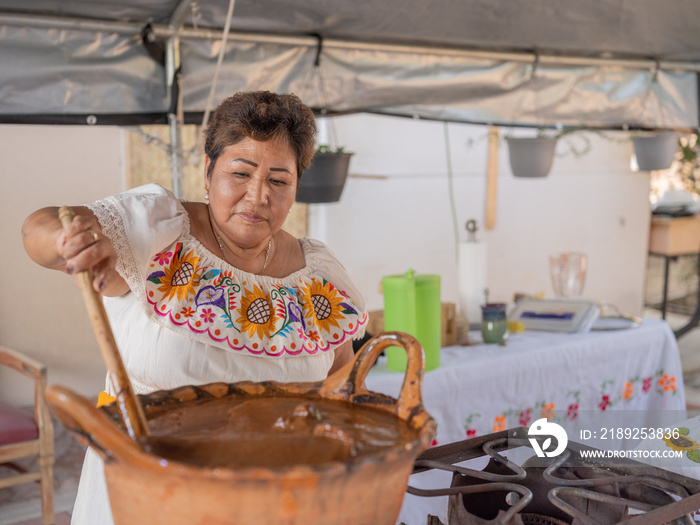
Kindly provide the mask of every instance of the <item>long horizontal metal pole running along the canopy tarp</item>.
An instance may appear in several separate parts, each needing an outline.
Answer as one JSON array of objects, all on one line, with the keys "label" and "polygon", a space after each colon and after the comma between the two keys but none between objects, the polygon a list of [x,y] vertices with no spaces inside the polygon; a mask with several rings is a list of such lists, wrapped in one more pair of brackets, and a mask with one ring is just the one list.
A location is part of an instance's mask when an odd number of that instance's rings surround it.
[{"label": "long horizontal metal pole running along the canopy tarp", "polygon": [[[181,1],[174,14],[179,14],[180,22],[184,21],[187,10],[192,0]],[[35,27],[43,29],[62,29],[72,31],[89,32],[114,32],[125,35],[140,35],[143,24],[136,22],[112,22],[104,20],[94,20],[79,17],[52,17],[44,15],[22,15],[15,13],[1,13],[0,25]],[[219,40],[221,32],[213,29],[181,27],[168,23],[152,24],[153,32],[156,36],[165,40],[173,37],[188,39]],[[270,43],[289,46],[317,47],[318,39],[315,36],[278,36],[262,33],[234,32],[229,34],[230,40],[238,42]],[[674,60],[654,60],[649,58],[607,58],[607,57],[586,57],[573,55],[549,55],[538,54],[532,51],[523,52],[500,52],[483,51],[475,49],[451,48],[451,47],[431,47],[431,46],[410,46],[380,44],[371,42],[354,42],[347,40],[324,39],[323,47],[326,49],[360,49],[367,51],[385,51],[394,53],[421,53],[435,54],[440,56],[468,57],[477,60],[492,61],[513,61],[513,62],[534,62],[539,64],[569,65],[580,67],[616,67],[633,70],[665,70],[665,71],[685,71],[700,73],[700,63],[684,62]]]}]

